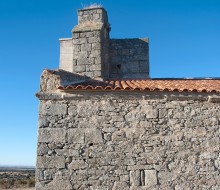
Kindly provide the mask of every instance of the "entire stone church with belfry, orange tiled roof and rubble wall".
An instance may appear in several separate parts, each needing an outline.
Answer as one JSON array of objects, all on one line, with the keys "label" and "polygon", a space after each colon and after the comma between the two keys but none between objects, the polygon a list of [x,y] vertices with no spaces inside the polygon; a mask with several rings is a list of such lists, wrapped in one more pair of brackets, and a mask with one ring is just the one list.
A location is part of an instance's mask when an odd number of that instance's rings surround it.
[{"label": "entire stone church with belfry, orange tiled roof and rubble wall", "polygon": [[148,39],[78,10],[40,78],[36,190],[220,189],[220,80],[151,79]]}]

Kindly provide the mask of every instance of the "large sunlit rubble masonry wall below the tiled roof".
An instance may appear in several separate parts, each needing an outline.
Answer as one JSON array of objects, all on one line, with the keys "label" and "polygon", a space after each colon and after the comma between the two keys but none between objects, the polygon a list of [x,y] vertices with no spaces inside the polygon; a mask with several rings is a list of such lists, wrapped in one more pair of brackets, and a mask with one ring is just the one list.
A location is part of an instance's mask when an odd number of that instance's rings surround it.
[{"label": "large sunlit rubble masonry wall below the tiled roof", "polygon": [[39,95],[36,190],[219,189],[220,104],[176,96]]}]

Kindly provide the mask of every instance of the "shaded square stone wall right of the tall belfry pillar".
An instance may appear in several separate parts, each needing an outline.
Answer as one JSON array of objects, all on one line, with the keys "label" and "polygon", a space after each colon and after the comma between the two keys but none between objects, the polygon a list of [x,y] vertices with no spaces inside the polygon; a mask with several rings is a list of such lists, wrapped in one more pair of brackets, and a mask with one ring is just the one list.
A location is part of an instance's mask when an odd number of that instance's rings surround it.
[{"label": "shaded square stone wall right of the tall belfry pillar", "polygon": [[149,78],[148,39],[110,40],[110,78]]}]

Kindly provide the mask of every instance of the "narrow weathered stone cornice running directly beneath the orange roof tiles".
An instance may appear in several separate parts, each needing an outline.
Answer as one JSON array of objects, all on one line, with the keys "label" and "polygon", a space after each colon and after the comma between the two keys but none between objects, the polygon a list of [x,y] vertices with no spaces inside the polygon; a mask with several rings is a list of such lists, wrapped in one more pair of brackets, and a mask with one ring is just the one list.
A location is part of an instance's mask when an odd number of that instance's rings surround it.
[{"label": "narrow weathered stone cornice running directly beneath the orange roof tiles", "polygon": [[164,101],[201,101],[220,103],[220,94],[207,93],[172,93],[172,92],[138,92],[138,91],[75,91],[75,92],[38,92],[40,100],[71,100],[71,99],[106,99],[117,97],[125,99],[164,100]]}]

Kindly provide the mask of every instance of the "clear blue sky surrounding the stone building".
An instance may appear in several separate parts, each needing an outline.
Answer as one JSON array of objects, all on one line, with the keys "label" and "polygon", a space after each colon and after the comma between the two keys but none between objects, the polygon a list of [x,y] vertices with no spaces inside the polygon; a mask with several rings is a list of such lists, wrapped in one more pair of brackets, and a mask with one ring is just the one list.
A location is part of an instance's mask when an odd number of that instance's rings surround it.
[{"label": "clear blue sky surrounding the stone building", "polygon": [[[150,38],[151,77],[220,77],[219,0],[100,0],[112,38]],[[39,78],[86,0],[0,1],[0,165],[35,165]]]}]

